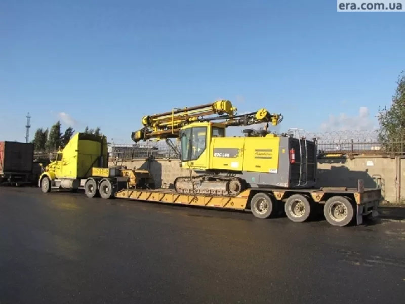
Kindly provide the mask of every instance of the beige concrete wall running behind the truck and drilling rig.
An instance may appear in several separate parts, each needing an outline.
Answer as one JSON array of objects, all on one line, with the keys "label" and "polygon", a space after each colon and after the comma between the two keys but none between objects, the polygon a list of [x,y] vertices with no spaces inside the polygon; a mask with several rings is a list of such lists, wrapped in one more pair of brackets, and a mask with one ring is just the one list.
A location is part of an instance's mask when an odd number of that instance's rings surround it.
[{"label": "beige concrete wall running behind the truck and drilling rig", "polygon": [[[171,188],[176,177],[190,175],[189,170],[180,167],[178,159],[133,159],[117,164],[131,169],[148,169],[156,186],[161,188]],[[329,157],[318,160],[318,187],[357,187],[358,179],[365,181],[366,188],[381,188],[386,201],[405,203],[405,159]]]}]

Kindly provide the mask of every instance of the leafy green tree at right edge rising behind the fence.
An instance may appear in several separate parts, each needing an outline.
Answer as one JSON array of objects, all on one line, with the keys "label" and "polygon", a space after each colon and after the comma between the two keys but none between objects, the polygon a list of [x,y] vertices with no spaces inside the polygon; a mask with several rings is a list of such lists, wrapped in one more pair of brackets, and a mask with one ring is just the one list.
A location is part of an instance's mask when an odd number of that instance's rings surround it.
[{"label": "leafy green tree at right edge rising behind the fence", "polygon": [[405,152],[405,74],[398,76],[391,107],[379,109],[379,140],[386,152]]}]

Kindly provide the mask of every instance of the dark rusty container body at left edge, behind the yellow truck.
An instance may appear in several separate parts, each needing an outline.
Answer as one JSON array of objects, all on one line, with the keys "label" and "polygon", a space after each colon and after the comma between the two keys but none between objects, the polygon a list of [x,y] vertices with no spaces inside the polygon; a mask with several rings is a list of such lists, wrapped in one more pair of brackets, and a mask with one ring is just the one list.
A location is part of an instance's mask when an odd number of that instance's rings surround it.
[{"label": "dark rusty container body at left edge, behind the yellow truck", "polygon": [[0,175],[30,174],[34,159],[34,145],[30,143],[0,142]]}]

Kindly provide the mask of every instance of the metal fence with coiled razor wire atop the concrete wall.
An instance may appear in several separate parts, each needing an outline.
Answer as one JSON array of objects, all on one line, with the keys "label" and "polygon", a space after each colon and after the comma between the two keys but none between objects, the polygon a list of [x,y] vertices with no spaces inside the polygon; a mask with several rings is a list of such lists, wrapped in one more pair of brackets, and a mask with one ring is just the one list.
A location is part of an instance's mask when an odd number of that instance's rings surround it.
[{"label": "metal fence with coiled razor wire atop the concrete wall", "polygon": [[[336,131],[313,133],[303,129],[289,129],[287,134],[295,138],[306,138],[317,142],[318,155],[405,155],[405,136],[395,136],[386,143],[378,140],[377,131]],[[109,160],[113,162],[131,159],[177,159],[180,145],[172,140],[172,146],[165,141],[143,142],[136,145],[113,145],[109,147]],[[177,150],[177,151],[176,151]],[[56,158],[56,153],[36,153],[36,160]]]}]

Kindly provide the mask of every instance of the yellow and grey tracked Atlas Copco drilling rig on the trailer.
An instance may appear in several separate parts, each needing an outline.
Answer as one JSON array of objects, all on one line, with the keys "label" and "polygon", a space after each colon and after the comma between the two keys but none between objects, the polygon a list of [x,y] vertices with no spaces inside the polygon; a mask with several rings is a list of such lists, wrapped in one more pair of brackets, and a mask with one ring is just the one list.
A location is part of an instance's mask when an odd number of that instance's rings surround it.
[{"label": "yellow and grey tracked Atlas Copco drilling rig on the trailer", "polygon": [[[264,108],[247,114],[236,112],[230,101],[219,100],[144,116],[143,128],[132,133],[132,140],[180,140],[181,166],[198,175],[178,177],[174,188],[179,193],[234,196],[248,188],[315,185],[314,142],[269,133],[268,124],[278,125],[281,114]],[[229,126],[259,123],[265,127],[245,129],[245,137],[225,136]]]}]

